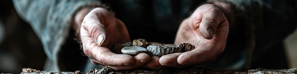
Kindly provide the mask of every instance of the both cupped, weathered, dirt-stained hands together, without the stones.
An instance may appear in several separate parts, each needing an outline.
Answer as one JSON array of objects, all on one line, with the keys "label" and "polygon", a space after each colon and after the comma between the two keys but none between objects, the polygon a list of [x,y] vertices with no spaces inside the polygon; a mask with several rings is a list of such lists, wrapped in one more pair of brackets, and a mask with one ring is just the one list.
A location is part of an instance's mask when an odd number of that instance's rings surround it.
[{"label": "both cupped, weathered, dirt-stained hands together, without the stones", "polygon": [[80,34],[84,53],[93,64],[107,65],[114,70],[149,67],[182,68],[213,61],[224,50],[229,31],[225,14],[213,4],[204,4],[184,19],[175,43],[191,43],[195,49],[162,57],[140,53],[135,56],[115,54],[109,48],[115,43],[130,42],[125,24],[103,8],[84,8],[75,16],[75,29]]}]

